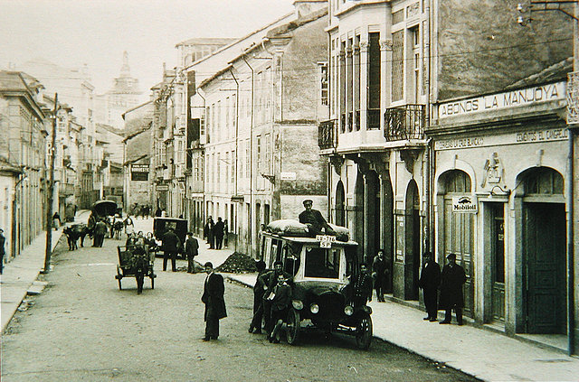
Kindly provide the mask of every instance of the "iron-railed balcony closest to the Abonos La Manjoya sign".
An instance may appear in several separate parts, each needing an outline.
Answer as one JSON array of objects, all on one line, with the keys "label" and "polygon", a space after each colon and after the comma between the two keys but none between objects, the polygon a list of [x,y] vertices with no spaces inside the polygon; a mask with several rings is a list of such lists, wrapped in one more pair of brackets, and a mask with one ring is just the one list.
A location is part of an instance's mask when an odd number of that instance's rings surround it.
[{"label": "iron-railed balcony closest to the Abonos La Manjoya sign", "polygon": [[384,138],[386,141],[423,139],[424,105],[390,107],[384,112]]}]

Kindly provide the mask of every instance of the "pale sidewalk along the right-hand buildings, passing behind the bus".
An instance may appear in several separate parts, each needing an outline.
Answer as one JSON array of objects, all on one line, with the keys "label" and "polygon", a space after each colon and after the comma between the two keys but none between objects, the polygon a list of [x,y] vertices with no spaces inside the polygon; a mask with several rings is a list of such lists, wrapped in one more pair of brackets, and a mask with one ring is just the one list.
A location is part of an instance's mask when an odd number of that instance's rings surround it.
[{"label": "pale sidewalk along the right-hand buildings, passing behind the bus", "polygon": [[[227,275],[247,286],[255,274]],[[400,303],[369,303],[374,336],[427,359],[488,381],[577,381],[579,359],[465,325],[422,321],[424,312]]]}]

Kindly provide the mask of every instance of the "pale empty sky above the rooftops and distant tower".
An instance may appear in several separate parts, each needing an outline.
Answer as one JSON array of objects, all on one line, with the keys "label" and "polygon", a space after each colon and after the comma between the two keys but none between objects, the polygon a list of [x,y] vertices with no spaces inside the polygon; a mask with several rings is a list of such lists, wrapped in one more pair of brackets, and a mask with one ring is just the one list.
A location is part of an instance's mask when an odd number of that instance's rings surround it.
[{"label": "pale empty sky above the rooftops and distant tower", "polygon": [[141,90],[176,66],[177,42],[242,37],[293,10],[293,0],[0,0],[0,70],[42,58],[87,64],[95,92],[109,90],[128,51]]}]

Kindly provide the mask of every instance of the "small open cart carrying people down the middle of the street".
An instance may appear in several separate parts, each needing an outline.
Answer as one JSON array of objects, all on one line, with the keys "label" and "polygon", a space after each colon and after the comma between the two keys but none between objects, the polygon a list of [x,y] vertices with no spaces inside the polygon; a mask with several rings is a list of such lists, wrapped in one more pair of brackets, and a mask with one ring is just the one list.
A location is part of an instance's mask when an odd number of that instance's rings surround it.
[{"label": "small open cart carrying people down the middle of the street", "polygon": [[146,245],[119,246],[119,265],[115,278],[119,281],[119,289],[122,290],[121,280],[123,277],[135,277],[137,280],[137,293],[143,292],[145,277],[151,279],[151,289],[155,289],[155,273],[153,272],[154,255],[149,255]]}]

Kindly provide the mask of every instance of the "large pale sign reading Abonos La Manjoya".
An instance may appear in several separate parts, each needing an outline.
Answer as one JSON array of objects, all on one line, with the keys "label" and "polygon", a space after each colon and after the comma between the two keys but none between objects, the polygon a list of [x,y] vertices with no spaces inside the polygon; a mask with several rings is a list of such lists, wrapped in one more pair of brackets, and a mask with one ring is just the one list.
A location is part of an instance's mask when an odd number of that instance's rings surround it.
[{"label": "large pale sign reading Abonos La Manjoya", "polygon": [[498,110],[509,107],[520,107],[534,103],[565,99],[566,82],[541,85],[533,88],[507,91],[477,98],[460,99],[441,103],[438,107],[440,119],[449,116],[460,116],[482,111]]}]

